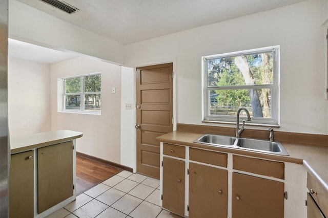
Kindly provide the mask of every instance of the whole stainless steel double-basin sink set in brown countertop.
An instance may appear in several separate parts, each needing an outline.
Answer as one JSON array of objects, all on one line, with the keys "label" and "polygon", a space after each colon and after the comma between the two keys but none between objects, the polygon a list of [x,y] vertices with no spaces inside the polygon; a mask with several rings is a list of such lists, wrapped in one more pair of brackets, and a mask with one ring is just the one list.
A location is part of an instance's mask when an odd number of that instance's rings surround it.
[{"label": "whole stainless steel double-basin sink set in brown countertop", "polygon": [[281,143],[266,140],[206,134],[194,140],[194,142],[212,146],[239,148],[274,155],[289,156],[288,152],[285,150]]}]

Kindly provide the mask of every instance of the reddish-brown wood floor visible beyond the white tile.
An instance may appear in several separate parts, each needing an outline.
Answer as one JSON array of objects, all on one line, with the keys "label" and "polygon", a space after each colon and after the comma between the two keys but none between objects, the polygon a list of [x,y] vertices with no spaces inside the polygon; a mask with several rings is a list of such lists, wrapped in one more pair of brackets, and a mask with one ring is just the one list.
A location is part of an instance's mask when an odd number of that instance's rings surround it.
[{"label": "reddish-brown wood floor visible beyond the white tile", "polygon": [[76,194],[80,194],[91,187],[114,176],[122,169],[76,156]]}]

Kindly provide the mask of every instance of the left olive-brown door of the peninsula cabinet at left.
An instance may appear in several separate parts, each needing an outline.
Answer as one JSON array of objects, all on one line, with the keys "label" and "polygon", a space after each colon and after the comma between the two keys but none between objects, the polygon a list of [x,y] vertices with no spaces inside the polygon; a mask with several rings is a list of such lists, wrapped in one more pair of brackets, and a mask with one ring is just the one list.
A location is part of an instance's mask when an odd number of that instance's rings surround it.
[{"label": "left olive-brown door of the peninsula cabinet at left", "polygon": [[34,217],[34,152],[11,155],[9,217]]}]

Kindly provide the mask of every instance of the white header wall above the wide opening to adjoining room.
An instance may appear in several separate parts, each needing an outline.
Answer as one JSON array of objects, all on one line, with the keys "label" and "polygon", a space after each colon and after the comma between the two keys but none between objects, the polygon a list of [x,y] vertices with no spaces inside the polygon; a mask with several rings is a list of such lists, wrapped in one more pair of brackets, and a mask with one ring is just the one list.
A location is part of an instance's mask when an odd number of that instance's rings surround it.
[{"label": "white header wall above the wide opening to adjoining room", "polygon": [[9,0],[10,38],[122,63],[123,47],[16,0]]}]

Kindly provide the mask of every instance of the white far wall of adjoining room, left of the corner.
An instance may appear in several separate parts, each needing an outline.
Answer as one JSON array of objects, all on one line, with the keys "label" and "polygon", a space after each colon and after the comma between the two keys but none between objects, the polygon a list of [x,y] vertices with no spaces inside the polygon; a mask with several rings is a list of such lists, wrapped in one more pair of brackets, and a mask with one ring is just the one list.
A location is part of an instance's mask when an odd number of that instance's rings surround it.
[{"label": "white far wall of adjoining room, left of the corner", "polygon": [[10,136],[50,130],[50,64],[8,59]]}]

